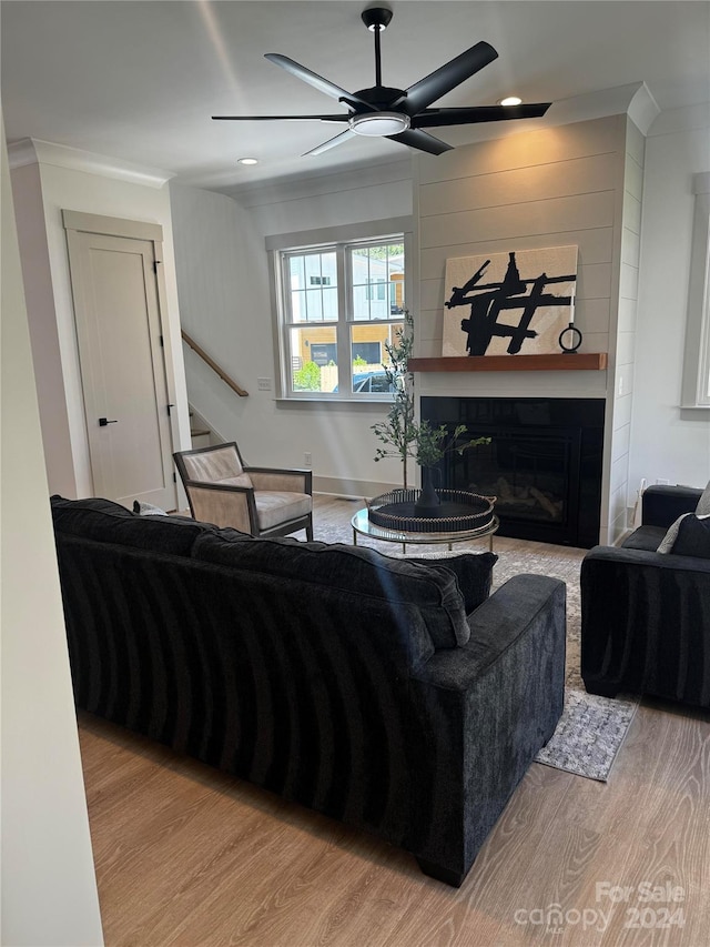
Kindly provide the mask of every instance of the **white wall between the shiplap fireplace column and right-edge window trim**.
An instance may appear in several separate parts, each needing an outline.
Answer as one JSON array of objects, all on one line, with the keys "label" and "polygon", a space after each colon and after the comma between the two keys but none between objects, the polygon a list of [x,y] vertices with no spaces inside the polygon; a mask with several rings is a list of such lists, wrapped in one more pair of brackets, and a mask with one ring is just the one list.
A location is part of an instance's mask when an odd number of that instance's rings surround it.
[{"label": "white wall between the shiplap fireplace column and right-edge window trim", "polygon": [[[646,142],[629,486],[710,478],[710,411],[681,411],[692,175],[710,170],[708,107],[662,112]],[[629,496],[629,505],[633,497]]]}]

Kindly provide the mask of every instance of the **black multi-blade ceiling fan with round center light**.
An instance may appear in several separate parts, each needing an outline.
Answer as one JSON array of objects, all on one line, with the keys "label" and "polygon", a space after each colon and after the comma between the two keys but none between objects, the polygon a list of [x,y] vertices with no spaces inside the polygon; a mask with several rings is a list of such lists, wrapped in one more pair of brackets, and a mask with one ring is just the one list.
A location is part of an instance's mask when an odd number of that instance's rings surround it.
[{"label": "black multi-blade ceiling fan with round center light", "polygon": [[322,75],[317,75],[304,66],[294,62],[277,52],[267,52],[265,58],[297,79],[302,79],[326,95],[337,99],[349,110],[347,114],[334,115],[212,115],[215,121],[232,122],[274,122],[274,121],[320,121],[346,124],[335,138],[306,151],[305,154],[321,154],[342,144],[353,134],[389,138],[408,144],[429,154],[443,154],[452,145],[429,134],[424,129],[445,125],[476,124],[509,119],[534,119],[544,115],[550,102],[530,105],[477,105],[474,108],[430,109],[429,105],[460,85],[476,72],[498,58],[496,50],[487,42],[478,42],[450,62],[436,69],[425,79],[409,85],[408,89],[390,89],[382,84],[382,64],[379,57],[379,34],[392,20],[392,10],[385,7],[372,7],[362,14],[363,22],[375,34],[375,84],[359,92],[346,92]]}]

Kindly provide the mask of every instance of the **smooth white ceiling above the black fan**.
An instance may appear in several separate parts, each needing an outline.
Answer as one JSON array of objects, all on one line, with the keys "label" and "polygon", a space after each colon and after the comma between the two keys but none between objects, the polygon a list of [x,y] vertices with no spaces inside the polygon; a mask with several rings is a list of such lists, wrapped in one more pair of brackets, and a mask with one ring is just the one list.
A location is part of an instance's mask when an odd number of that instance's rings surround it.
[{"label": "smooth white ceiling above the black fan", "polygon": [[[50,141],[227,193],[406,157],[396,142],[354,138],[303,158],[339,129],[210,118],[337,112],[333,99],[263,56],[283,53],[348,91],[373,85],[373,34],[361,20],[372,6],[394,10],[382,36],[383,84],[405,89],[479,40],[498,50],[437,105],[493,104],[517,92],[554,102],[535,122],[555,124],[565,109],[572,120],[577,104],[630,83],[645,82],[661,110],[710,101],[710,3],[700,0],[2,0],[8,142]],[[456,145],[503,124],[435,133]],[[260,164],[237,165],[245,155]]]}]

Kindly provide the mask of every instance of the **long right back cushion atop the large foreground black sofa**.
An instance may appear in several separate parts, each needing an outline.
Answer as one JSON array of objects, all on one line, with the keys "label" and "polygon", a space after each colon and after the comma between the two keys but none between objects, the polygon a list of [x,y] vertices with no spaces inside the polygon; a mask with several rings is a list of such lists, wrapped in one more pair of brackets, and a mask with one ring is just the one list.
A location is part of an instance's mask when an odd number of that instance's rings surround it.
[{"label": "long right back cushion atop the large foreground black sofa", "polygon": [[394,560],[362,546],[292,538],[230,542],[219,533],[200,536],[192,555],[234,568],[382,598],[395,607],[413,605],[436,648],[464,645],[470,637],[456,576],[442,566]]}]

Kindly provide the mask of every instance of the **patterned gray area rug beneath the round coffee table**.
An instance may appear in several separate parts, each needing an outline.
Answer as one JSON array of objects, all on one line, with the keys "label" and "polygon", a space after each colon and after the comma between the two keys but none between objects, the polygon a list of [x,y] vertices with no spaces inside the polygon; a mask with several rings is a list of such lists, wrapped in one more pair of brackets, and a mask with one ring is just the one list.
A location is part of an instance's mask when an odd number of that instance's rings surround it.
[{"label": "patterned gray area rug beneath the round coffee table", "polygon": [[[353,542],[349,520],[363,503],[328,500],[320,516],[314,515],[315,538],[326,543]],[[377,548],[388,555],[400,554],[400,546],[358,537],[358,545]],[[480,551],[485,545],[458,543],[455,551]],[[440,546],[417,548],[417,555],[437,554]],[[425,552],[426,551],[426,552]],[[567,585],[567,664],[565,669],[565,708],[551,739],[537,755],[538,763],[564,769],[576,776],[606,783],[628,733],[638,699],[621,695],[616,699],[587,694],[580,676],[580,595],[579,567],[584,550],[552,546],[496,537],[494,551],[494,590],[521,573],[549,575]]]}]

